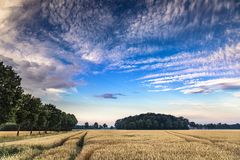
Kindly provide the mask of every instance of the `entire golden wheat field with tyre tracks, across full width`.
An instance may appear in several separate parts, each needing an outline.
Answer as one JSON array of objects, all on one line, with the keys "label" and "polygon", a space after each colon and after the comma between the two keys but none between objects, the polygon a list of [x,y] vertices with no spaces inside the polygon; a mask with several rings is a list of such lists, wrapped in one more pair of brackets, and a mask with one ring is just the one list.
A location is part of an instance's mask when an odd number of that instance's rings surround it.
[{"label": "entire golden wheat field with tyre tracks, across full width", "polygon": [[0,147],[6,153],[1,159],[239,160],[240,131],[88,130],[0,143]]}]

